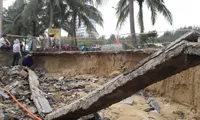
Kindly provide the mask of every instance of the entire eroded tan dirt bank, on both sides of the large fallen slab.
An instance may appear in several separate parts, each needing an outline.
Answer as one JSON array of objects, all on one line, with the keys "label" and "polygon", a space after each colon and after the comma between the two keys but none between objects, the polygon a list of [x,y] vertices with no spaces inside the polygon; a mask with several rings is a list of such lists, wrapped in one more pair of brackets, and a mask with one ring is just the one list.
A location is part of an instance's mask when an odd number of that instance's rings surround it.
[{"label": "entire eroded tan dirt bank, on both sides of the large fallen slab", "polygon": [[[132,69],[151,52],[92,52],[92,53],[35,53],[37,67],[45,67],[49,73],[64,76],[95,75],[114,77],[115,73]],[[191,68],[149,87],[160,95],[171,97],[174,101],[200,110],[200,66]],[[116,72],[117,71],[117,72]],[[110,76],[114,73],[113,76]]]}]

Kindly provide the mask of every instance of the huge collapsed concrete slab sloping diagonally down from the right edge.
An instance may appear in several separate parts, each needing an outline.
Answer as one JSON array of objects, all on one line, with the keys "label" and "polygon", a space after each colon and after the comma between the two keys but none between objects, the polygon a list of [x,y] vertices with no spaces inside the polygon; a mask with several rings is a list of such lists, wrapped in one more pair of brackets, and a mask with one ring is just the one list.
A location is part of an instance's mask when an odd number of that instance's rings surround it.
[{"label": "huge collapsed concrete slab sloping diagonally down from the right edge", "polygon": [[76,120],[117,103],[147,86],[200,64],[199,33],[190,32],[166,49],[141,61],[103,87],[74,103],[48,114],[45,120]]}]

